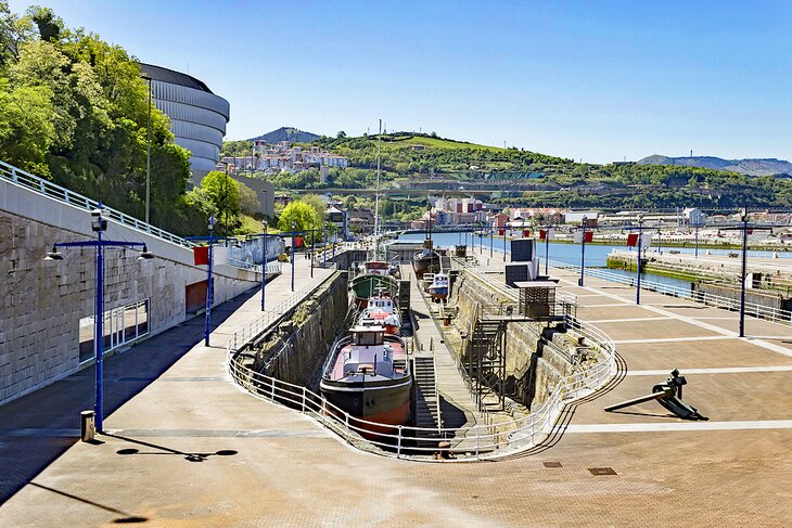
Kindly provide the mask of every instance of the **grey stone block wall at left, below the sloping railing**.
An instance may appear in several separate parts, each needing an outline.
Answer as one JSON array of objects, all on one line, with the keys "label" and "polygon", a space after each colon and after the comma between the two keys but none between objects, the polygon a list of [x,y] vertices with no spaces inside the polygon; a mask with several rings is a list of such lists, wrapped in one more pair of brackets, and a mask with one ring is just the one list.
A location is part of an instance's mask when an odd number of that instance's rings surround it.
[{"label": "grey stone block wall at left, below the sloping railing", "polygon": [[[94,237],[90,214],[8,182],[0,182],[0,233],[2,404],[90,364],[79,362],[78,325],[95,310],[95,258],[92,248],[63,248],[64,260],[44,261],[55,242]],[[192,250],[113,221],[106,237],[144,242],[155,258],[107,249],[104,309],[149,298],[149,335],[184,321],[184,287],[206,280]],[[217,266],[215,302],[257,285],[255,273]]]}]

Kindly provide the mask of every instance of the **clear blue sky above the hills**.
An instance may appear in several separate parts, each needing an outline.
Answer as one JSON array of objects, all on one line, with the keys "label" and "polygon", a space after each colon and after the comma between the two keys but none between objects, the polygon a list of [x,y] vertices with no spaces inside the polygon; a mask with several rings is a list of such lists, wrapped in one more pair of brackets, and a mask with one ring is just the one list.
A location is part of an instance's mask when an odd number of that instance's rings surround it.
[{"label": "clear blue sky above the hills", "polygon": [[792,1],[36,3],[206,82],[227,140],[382,118],[589,163],[792,159]]}]

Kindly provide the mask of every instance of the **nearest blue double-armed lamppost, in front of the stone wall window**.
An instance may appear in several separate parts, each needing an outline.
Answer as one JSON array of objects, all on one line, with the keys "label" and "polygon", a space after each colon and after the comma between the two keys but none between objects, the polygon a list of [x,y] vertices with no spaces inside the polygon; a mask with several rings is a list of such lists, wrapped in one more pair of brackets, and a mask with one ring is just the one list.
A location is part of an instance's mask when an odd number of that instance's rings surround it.
[{"label": "nearest blue double-armed lamppost, in front of the stone wall window", "polygon": [[82,242],[56,242],[52,244],[52,250],[47,254],[44,260],[63,260],[63,254],[58,252],[59,247],[95,247],[97,248],[97,279],[95,279],[95,313],[93,315],[93,350],[95,355],[95,396],[93,400],[94,427],[98,432],[103,430],[104,418],[104,372],[102,362],[102,339],[104,338],[104,247],[142,247],[138,260],[154,258],[145,244],[142,242],[126,242],[103,240],[102,233],[107,230],[107,220],[102,216],[102,203],[91,211],[91,230],[97,233],[97,240]]}]

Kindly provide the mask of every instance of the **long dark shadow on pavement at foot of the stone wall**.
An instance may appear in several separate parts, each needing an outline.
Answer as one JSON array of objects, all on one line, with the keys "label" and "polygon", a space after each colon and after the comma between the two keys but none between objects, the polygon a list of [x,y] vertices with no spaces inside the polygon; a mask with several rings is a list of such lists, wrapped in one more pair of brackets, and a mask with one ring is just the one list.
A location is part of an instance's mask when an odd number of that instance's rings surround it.
[{"label": "long dark shadow on pavement at foot of the stone wall", "polygon": [[[213,330],[248,298],[252,288],[212,309]],[[204,315],[104,360],[104,414],[129,401],[204,336]],[[79,413],[93,409],[94,369],[89,366],[0,407],[0,505],[79,439]]]}]

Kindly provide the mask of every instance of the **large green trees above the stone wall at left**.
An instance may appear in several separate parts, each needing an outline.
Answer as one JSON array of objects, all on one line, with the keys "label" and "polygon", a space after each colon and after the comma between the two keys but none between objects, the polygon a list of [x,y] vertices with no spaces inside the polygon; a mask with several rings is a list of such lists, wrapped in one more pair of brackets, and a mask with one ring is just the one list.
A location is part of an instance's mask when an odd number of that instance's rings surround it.
[{"label": "large green trees above the stone wall at left", "polygon": [[[0,0],[0,159],[143,218],[148,117],[149,86],[123,48]],[[151,221],[194,232],[205,222],[186,199],[190,153],[169,128],[152,108]]]}]

